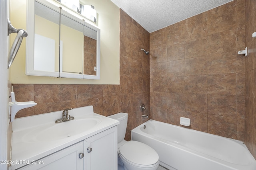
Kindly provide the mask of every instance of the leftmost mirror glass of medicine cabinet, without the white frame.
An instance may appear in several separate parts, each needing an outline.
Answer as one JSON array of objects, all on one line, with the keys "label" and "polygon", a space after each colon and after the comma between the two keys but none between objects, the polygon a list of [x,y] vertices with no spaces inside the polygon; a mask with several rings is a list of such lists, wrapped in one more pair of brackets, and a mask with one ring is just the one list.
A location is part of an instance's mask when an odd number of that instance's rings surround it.
[{"label": "leftmost mirror glass of medicine cabinet, without the white frame", "polygon": [[35,70],[59,72],[59,18],[58,12],[38,2],[35,3]]}]

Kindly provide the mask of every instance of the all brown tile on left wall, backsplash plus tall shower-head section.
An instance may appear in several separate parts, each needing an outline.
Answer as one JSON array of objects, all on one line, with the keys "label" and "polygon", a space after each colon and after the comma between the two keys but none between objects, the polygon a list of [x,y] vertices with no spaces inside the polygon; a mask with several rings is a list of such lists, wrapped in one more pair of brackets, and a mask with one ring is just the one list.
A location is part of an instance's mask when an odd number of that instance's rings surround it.
[{"label": "all brown tile on left wall, backsplash plus tall shower-head section", "polygon": [[150,113],[149,56],[141,48],[149,50],[149,33],[120,10],[120,85],[13,84],[18,102],[37,103],[16,118],[92,105],[105,116],[128,113],[125,139],[130,140],[130,130],[148,120],[142,118],[140,104]]}]

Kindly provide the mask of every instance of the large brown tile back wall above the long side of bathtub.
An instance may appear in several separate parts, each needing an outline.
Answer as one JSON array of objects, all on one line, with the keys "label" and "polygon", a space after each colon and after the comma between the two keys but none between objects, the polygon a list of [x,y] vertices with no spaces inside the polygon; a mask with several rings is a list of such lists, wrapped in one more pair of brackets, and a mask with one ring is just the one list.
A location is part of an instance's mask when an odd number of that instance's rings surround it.
[{"label": "large brown tile back wall above the long side of bathtub", "polygon": [[188,117],[191,129],[244,140],[244,6],[234,0],[150,33],[152,119]]}]

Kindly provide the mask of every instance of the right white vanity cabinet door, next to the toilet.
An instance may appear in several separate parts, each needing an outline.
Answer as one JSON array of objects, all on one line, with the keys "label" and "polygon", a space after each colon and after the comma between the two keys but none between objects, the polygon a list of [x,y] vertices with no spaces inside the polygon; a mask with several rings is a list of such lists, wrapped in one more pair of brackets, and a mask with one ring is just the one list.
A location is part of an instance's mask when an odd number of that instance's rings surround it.
[{"label": "right white vanity cabinet door, next to the toilet", "polygon": [[85,170],[117,170],[117,127],[84,140]]}]

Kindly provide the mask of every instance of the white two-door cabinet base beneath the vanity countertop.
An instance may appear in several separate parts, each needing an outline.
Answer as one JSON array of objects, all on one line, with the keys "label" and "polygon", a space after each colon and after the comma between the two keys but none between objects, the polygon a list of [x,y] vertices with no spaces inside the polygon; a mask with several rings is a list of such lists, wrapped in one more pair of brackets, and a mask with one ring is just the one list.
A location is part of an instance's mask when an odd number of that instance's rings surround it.
[{"label": "white two-door cabinet base beneath the vanity countertop", "polygon": [[19,170],[117,170],[117,127],[31,162]]}]

